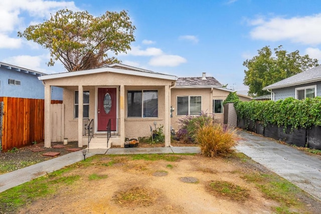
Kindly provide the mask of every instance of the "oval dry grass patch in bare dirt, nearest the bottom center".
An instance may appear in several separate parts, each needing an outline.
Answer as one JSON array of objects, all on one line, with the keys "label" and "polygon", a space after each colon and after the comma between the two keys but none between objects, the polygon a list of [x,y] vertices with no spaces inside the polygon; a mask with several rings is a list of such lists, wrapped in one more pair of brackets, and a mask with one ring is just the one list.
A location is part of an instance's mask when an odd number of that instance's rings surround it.
[{"label": "oval dry grass patch in bare dirt, nearest the bottom center", "polygon": [[138,204],[138,205],[152,205],[158,195],[157,190],[147,189],[142,187],[132,187],[127,190],[119,191],[115,194],[116,201],[120,204]]}]

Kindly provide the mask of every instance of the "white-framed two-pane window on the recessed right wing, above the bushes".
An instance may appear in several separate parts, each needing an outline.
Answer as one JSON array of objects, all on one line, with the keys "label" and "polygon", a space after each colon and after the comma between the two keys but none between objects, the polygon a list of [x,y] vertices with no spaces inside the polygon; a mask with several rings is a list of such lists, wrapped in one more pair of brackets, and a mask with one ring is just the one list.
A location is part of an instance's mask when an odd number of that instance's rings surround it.
[{"label": "white-framed two-pane window on the recessed right wing, above the bushes", "polygon": [[177,115],[200,115],[202,96],[177,96]]}]

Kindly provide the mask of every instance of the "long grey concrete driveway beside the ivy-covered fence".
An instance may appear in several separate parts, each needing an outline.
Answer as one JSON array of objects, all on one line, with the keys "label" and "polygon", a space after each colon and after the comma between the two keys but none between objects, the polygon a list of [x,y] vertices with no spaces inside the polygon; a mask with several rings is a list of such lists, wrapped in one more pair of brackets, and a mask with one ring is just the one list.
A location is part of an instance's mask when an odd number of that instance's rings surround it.
[{"label": "long grey concrete driveway beside the ivy-covered fence", "polygon": [[236,149],[321,200],[321,157],[240,131]]}]

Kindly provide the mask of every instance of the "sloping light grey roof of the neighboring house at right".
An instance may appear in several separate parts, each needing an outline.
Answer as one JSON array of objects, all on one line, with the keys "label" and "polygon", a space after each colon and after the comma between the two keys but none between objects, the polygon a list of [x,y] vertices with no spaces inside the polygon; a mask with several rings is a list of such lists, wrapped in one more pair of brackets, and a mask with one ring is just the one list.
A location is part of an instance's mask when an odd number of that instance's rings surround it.
[{"label": "sloping light grey roof of the neighboring house at right", "polygon": [[272,85],[266,86],[263,88],[263,90],[284,88],[317,81],[321,81],[321,66],[311,68]]}]

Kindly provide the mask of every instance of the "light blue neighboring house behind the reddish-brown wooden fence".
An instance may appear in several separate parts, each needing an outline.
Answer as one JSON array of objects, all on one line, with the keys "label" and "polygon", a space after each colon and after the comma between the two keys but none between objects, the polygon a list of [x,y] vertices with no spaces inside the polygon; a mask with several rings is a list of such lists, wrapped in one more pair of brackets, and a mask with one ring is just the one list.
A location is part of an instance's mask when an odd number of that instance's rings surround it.
[{"label": "light blue neighboring house behind the reddish-brown wooden fence", "polygon": [[[0,62],[0,97],[44,99],[44,73]],[[52,87],[52,100],[62,100],[62,89]]]}]

